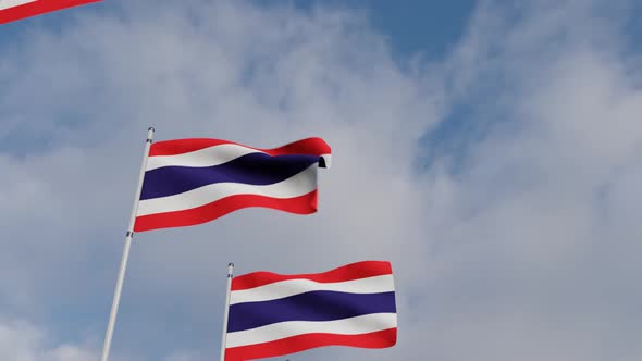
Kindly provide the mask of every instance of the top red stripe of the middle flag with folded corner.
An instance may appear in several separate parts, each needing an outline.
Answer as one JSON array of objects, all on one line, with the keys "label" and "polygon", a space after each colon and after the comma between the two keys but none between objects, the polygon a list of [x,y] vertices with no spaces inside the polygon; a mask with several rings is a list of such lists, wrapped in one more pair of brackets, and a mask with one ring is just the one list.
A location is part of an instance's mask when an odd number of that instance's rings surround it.
[{"label": "top red stripe of the middle flag with folded corner", "polygon": [[273,149],[261,149],[261,148],[254,148],[248,147],[238,142],[229,141],[229,140],[221,140],[221,139],[210,139],[210,138],[188,138],[188,139],[173,139],[173,140],[163,140],[158,141],[151,145],[149,149],[149,157],[157,157],[157,155],[177,155],[183,153],[188,153],[192,151],[214,147],[219,145],[237,145],[250,149],[256,149],[259,151],[263,151],[270,155],[283,155],[283,154],[310,154],[310,155],[321,155],[321,154],[330,154],[331,149],[330,146],[325,142],[325,140],[317,137],[306,138],[301,140],[297,140],[291,142],[288,145],[273,148]]}]

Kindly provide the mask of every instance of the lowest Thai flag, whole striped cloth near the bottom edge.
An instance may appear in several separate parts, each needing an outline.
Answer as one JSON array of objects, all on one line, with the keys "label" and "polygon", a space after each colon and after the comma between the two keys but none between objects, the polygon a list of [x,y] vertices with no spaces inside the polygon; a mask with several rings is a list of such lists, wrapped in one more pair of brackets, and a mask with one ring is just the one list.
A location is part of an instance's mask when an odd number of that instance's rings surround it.
[{"label": "lowest Thai flag, whole striped cloth near the bottom edge", "polygon": [[397,340],[390,262],[363,261],[317,274],[255,272],[232,281],[225,361],[323,346],[392,347]]}]

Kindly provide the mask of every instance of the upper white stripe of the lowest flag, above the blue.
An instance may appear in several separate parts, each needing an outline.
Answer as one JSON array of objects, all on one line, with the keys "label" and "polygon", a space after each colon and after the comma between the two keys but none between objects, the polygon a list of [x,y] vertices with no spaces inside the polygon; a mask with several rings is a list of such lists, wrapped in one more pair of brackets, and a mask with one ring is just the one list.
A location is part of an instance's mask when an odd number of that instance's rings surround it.
[{"label": "upper white stripe of the lowest flag, above the blue", "polygon": [[394,291],[395,284],[392,274],[335,283],[319,283],[300,278],[287,279],[256,288],[234,290],[231,294],[230,304],[269,301],[316,290],[381,294]]}]

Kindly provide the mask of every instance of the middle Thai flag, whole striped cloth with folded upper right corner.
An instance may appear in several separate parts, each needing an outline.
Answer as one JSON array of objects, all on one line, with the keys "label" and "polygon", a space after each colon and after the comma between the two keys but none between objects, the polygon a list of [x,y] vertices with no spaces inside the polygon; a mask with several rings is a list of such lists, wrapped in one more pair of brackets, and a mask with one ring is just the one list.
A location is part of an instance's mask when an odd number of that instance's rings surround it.
[{"label": "middle Thai flag, whole striped cloth with folded upper right corner", "polygon": [[317,172],[330,159],[321,138],[273,149],[210,138],[155,142],[134,231],[201,224],[249,207],[314,213]]}]

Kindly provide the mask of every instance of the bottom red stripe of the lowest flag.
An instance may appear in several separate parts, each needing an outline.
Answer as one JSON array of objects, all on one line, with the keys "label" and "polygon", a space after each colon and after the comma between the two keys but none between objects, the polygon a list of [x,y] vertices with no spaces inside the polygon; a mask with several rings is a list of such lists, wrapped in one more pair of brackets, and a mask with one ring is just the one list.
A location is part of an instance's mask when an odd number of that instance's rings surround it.
[{"label": "bottom red stripe of the lowest flag", "polygon": [[386,348],[397,343],[397,328],[361,335],[305,334],[275,341],[225,349],[225,361],[245,361],[277,357],[322,346]]}]

